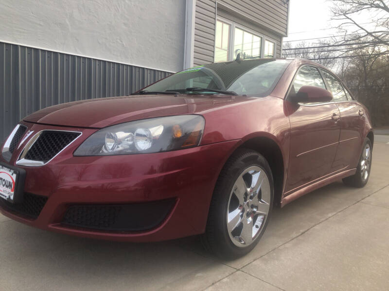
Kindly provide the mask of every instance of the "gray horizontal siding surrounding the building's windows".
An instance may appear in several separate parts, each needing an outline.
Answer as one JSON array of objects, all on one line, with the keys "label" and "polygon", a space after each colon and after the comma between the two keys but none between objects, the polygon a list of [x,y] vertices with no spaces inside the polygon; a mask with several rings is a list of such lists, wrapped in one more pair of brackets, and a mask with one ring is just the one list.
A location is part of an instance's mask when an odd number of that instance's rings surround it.
[{"label": "gray horizontal siding surrounding the building's windows", "polygon": [[281,57],[288,5],[282,0],[196,0],[194,65],[213,62],[216,15],[275,40],[276,57]]}]

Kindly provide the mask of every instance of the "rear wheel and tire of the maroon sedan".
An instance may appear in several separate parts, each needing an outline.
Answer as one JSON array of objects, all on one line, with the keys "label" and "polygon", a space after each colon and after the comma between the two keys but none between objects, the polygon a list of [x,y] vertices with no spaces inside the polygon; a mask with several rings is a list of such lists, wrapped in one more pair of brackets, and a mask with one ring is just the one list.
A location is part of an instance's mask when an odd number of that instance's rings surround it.
[{"label": "rear wheel and tire of the maroon sedan", "polygon": [[356,173],[353,176],[343,178],[343,183],[351,187],[362,188],[369,181],[372,159],[372,146],[369,138],[365,139],[362,153],[359,157]]}]

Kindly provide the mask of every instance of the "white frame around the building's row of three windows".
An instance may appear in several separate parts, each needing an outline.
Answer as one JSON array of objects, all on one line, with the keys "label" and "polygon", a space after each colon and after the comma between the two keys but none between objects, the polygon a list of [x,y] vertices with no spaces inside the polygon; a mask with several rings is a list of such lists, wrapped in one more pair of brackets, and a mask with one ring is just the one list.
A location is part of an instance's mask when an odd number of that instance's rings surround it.
[{"label": "white frame around the building's row of three windows", "polygon": [[[230,38],[229,38],[229,56],[227,57],[227,62],[231,62],[231,61],[235,60],[235,57],[234,57],[235,51],[234,51],[234,43],[233,43],[234,39],[235,39],[235,28],[238,28],[240,30],[251,33],[251,34],[261,38],[261,50],[260,50],[259,58],[263,58],[263,56],[265,54],[265,40],[274,43],[274,51],[273,51],[274,57],[273,58],[276,57],[277,41],[275,39],[268,37],[268,36],[265,36],[262,33],[256,32],[252,29],[249,29],[248,27],[246,27],[244,25],[233,22],[233,21],[228,20],[224,17],[217,16],[216,21],[221,21],[221,22],[230,24],[230,27],[231,27]],[[213,46],[213,63],[215,63],[215,56],[216,56],[215,52],[216,52],[216,22],[215,22],[215,42],[214,42],[214,46]],[[271,59],[271,58],[269,58],[269,59]],[[219,63],[221,63],[221,62],[219,62]]]}]

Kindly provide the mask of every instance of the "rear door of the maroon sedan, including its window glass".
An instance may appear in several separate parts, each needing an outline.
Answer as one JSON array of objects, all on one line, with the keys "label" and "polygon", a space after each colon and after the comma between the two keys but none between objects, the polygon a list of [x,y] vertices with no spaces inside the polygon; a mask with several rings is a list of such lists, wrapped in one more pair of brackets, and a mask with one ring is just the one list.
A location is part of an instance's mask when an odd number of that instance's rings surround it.
[{"label": "rear door of the maroon sedan, including its window glass", "polygon": [[353,100],[351,94],[332,73],[322,70],[322,74],[340,112],[339,146],[333,169],[336,171],[347,167],[355,168],[364,141],[361,136],[365,124],[364,108]]}]

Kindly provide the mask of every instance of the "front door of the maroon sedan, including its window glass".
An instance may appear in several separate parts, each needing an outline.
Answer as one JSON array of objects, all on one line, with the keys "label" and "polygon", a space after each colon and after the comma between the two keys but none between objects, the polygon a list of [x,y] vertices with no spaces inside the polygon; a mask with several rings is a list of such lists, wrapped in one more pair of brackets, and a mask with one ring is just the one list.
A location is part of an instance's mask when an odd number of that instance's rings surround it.
[{"label": "front door of the maroon sedan, including its window glass", "polygon": [[[288,96],[304,85],[327,89],[318,68],[312,65],[300,67]],[[288,108],[291,136],[287,195],[331,173],[339,142],[340,116],[334,102],[286,104],[292,108]]]}]

